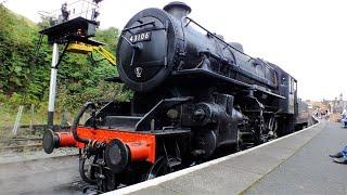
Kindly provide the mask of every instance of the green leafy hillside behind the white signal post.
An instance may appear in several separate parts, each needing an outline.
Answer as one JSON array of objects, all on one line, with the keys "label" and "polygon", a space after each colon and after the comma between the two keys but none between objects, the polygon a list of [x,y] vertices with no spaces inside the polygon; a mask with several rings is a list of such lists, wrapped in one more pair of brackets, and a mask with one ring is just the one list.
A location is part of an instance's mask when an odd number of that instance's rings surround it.
[{"label": "green leafy hillside behind the white signal post", "polygon": [[[47,110],[52,51],[47,38],[39,50],[36,48],[38,31],[44,24],[35,24],[0,4],[0,116],[12,107],[15,112],[20,104],[35,104],[42,113]],[[118,29],[108,28],[99,29],[94,39],[107,43],[106,48],[114,53],[117,38]],[[129,98],[130,92],[123,86],[104,81],[117,73],[116,67],[101,58],[97,53],[93,60],[73,53],[64,56],[59,68],[57,113],[74,113],[87,101]]]}]

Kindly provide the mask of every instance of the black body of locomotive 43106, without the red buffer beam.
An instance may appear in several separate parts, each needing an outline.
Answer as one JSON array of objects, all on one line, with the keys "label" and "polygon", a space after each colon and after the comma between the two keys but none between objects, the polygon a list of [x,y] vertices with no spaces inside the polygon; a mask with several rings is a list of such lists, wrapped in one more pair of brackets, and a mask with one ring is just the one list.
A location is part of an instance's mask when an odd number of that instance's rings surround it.
[{"label": "black body of locomotive 43106, without the red buffer beam", "polygon": [[190,12],[181,2],[146,9],[121,32],[118,73],[134,91],[128,112],[140,116],[136,130],[188,131],[189,153],[203,158],[223,145],[259,144],[292,132],[296,80],[210,32]]}]

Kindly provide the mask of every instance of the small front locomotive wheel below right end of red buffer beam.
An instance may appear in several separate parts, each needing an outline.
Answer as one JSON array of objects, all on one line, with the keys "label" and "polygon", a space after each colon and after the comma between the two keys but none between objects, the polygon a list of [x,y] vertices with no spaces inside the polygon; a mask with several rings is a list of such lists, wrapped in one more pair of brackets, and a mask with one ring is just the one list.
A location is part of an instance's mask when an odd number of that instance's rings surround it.
[{"label": "small front locomotive wheel below right end of red buffer beam", "polygon": [[150,168],[144,180],[152,180],[154,178],[168,174],[174,171],[174,166],[180,164],[180,160],[172,157],[159,157],[153,166]]}]

